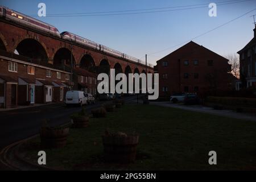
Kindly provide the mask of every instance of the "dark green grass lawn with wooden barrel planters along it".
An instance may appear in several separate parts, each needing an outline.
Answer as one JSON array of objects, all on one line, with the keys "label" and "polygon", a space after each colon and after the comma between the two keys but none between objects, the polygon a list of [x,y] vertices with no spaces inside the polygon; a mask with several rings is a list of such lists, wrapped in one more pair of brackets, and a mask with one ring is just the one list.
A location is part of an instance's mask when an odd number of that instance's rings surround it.
[{"label": "dark green grass lawn with wooden barrel planters along it", "polygon": [[[104,163],[105,128],[139,134],[133,164]],[[37,162],[39,138],[26,158]],[[217,152],[210,166],[208,152]],[[256,169],[256,122],[155,105],[125,105],[106,118],[90,118],[85,129],[71,129],[67,146],[45,150],[47,166],[60,169]]]}]

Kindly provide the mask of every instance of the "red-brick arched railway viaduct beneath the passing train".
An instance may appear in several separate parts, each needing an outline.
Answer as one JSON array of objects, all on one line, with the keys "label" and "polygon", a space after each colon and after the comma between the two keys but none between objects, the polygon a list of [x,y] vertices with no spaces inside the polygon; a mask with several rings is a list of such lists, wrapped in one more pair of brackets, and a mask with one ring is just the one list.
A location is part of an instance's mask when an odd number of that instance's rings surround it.
[{"label": "red-brick arched railway viaduct beneath the passing train", "polygon": [[[84,64],[88,69],[107,65],[108,68],[119,69],[118,72],[122,73],[146,73],[143,64],[108,55],[79,44],[71,45],[67,40],[0,19],[0,49],[7,52],[14,53],[16,50],[22,56],[46,60],[50,64],[60,64],[63,60],[65,63],[70,62],[71,47],[73,61],[76,65]],[[147,72],[154,73],[153,68],[147,67]]]}]

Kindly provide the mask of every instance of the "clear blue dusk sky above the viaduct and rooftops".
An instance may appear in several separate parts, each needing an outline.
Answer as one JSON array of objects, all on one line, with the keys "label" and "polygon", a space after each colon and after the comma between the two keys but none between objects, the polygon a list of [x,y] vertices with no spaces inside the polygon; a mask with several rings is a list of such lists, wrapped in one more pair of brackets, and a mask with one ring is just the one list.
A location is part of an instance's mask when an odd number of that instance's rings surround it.
[{"label": "clear blue dusk sky above the viaduct and rooftops", "polygon": [[[210,17],[208,4],[212,2],[217,4],[217,16]],[[39,3],[46,4],[46,17],[37,16]],[[72,32],[138,59],[145,60],[148,54],[148,63],[155,65],[157,60],[183,46],[184,42],[256,9],[256,0],[0,0],[0,5],[32,15],[52,24],[60,32]],[[166,7],[183,10],[163,9]],[[145,12],[141,9],[164,11],[138,14]],[[101,16],[88,14],[125,10],[129,11],[125,14],[103,13]],[[137,14],[127,14],[134,12]],[[67,16],[73,13],[90,16]],[[253,38],[254,21],[251,15],[256,15],[256,10],[193,41],[222,56],[236,53]]]}]

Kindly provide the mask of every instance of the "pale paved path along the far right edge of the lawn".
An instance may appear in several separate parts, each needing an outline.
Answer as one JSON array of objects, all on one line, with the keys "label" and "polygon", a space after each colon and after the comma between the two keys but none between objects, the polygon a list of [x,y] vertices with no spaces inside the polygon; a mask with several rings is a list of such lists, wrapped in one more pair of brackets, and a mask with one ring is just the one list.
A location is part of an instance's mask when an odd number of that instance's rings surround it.
[{"label": "pale paved path along the far right edge of the lawn", "polygon": [[229,118],[235,118],[235,119],[244,119],[247,121],[256,121],[255,114],[237,113],[236,111],[233,111],[233,110],[214,110],[212,107],[207,107],[207,106],[184,105],[182,103],[174,104],[172,102],[150,102],[150,104],[164,106],[164,107],[172,107],[176,109],[189,110],[189,111],[196,111],[200,113],[220,115],[223,117],[229,117]]}]

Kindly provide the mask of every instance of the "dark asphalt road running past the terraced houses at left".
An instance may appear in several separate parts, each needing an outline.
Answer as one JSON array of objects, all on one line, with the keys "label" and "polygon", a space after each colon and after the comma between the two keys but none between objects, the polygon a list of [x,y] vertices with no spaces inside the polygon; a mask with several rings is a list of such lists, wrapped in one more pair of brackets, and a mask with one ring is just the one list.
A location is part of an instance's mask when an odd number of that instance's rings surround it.
[{"label": "dark asphalt road running past the terraced houses at left", "polygon": [[[134,100],[134,97],[123,97],[124,100]],[[104,104],[103,101],[87,105],[86,111]],[[70,121],[70,115],[81,110],[81,107],[66,107],[64,104],[44,105],[0,112],[0,151],[18,140],[39,133],[44,119],[49,119],[50,126],[57,126]]]}]

